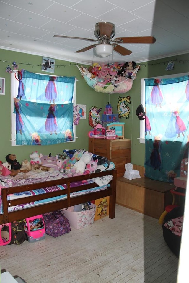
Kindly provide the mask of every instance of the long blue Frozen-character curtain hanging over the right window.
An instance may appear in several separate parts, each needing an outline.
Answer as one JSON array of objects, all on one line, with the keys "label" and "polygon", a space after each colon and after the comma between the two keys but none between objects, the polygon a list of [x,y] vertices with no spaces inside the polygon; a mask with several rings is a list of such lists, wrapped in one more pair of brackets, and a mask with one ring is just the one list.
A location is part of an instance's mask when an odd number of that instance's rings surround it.
[{"label": "long blue Frozen-character curtain hanging over the right window", "polygon": [[189,142],[189,76],[145,79],[145,175],[173,182]]}]

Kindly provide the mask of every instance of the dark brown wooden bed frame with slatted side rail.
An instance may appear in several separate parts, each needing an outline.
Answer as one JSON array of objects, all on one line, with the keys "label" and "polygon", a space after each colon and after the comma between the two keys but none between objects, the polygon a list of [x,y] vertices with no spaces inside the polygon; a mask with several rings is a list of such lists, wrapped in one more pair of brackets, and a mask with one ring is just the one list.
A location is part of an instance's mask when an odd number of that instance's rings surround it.
[{"label": "dark brown wooden bed frame with slatted side rail", "polygon": [[[110,182],[110,187],[108,187],[106,190],[91,192],[91,193],[87,193],[83,195],[75,195],[73,197],[70,197],[70,194],[73,192],[79,192],[80,190],[87,190],[93,187],[98,187],[96,183],[84,184],[82,186],[77,186],[77,187],[70,187],[70,183],[92,179],[92,178],[97,178],[97,177],[102,177],[106,175],[113,175],[113,180]],[[47,213],[47,212],[62,209],[62,208],[67,208],[69,206],[77,205],[80,203],[84,203],[84,202],[91,201],[91,200],[96,200],[96,199],[107,197],[107,196],[110,196],[109,218],[115,218],[116,175],[117,175],[117,170],[113,169],[113,170],[103,171],[100,173],[92,173],[88,175],[63,178],[59,180],[40,182],[36,184],[2,188],[1,198],[2,198],[4,214],[0,214],[0,224],[13,222],[16,220],[32,217],[35,215],[40,215],[43,213]],[[19,198],[15,200],[7,200],[7,195],[12,194],[12,193],[25,192],[29,190],[35,190],[35,189],[40,189],[43,187],[51,187],[51,186],[62,185],[62,184],[66,184],[67,188],[64,190],[58,190],[56,192],[48,192],[48,193],[44,193],[40,195],[33,195],[33,196]],[[48,199],[48,198],[61,196],[65,194],[67,195],[67,198],[63,200],[56,200],[51,203],[43,203],[40,205],[31,206],[29,208],[23,208],[23,209],[8,212],[8,208],[10,206],[21,205],[24,203]]]}]

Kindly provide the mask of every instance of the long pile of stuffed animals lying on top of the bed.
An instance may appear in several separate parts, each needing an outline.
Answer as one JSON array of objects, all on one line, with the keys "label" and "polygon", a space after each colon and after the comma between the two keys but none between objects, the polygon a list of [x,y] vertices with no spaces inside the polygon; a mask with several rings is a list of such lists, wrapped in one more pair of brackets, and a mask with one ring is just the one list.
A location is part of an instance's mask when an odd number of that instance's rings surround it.
[{"label": "long pile of stuffed animals lying on top of the bed", "polygon": [[105,171],[110,166],[110,161],[105,157],[96,156],[83,149],[64,150],[55,157],[51,154],[38,154],[37,151],[30,154],[30,161],[22,160],[21,164],[17,161],[15,154],[6,155],[6,161],[0,161],[0,175],[16,176],[18,173],[29,171],[50,173],[59,170],[60,173],[68,177],[91,174],[93,172]]}]

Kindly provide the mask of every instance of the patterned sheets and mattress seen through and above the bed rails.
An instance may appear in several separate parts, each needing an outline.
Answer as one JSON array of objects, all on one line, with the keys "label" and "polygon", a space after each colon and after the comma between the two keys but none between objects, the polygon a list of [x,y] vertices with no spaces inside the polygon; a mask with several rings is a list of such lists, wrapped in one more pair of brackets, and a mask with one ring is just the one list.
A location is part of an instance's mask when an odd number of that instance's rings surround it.
[{"label": "patterned sheets and mattress seen through and above the bed rails", "polygon": [[[0,176],[0,188],[1,187],[15,187],[15,186],[21,186],[21,185],[28,185],[28,184],[35,184],[38,182],[45,182],[45,181],[50,181],[50,180],[58,180],[58,179],[63,179],[63,178],[67,178],[66,174],[61,174],[59,171],[54,171],[52,173],[49,172],[41,172],[41,173],[36,173],[33,171],[30,171],[28,173],[19,173],[18,175],[14,176],[14,177],[10,177],[10,176]],[[92,189],[88,189],[88,190],[81,190],[79,192],[74,192],[70,194],[70,197],[74,197],[75,195],[82,195],[82,194],[86,194],[86,193],[90,193],[90,192],[96,192],[96,191],[100,191],[100,190],[105,190],[107,189],[107,187],[109,186],[108,183],[112,180],[112,175],[107,175],[104,177],[100,177],[100,178],[94,178],[94,179],[89,179],[85,181],[86,183],[96,183],[99,187],[94,187]],[[75,183],[71,183],[70,187],[75,187],[75,186],[81,186],[84,185],[84,182],[75,182]],[[52,187],[45,187],[43,189],[36,189],[36,190],[30,190],[30,191],[25,191],[25,192],[21,192],[21,193],[15,193],[15,194],[11,194],[7,196],[8,200],[14,200],[14,199],[18,199],[18,198],[23,198],[23,197],[28,197],[28,196],[32,196],[32,195],[40,195],[40,194],[44,194],[47,192],[54,192],[54,191],[58,191],[58,190],[63,190],[66,188],[65,184],[62,185],[55,185]],[[55,200],[61,200],[61,199],[65,199],[66,198],[66,194],[65,195],[61,195],[61,196],[57,196],[57,197],[53,197],[53,198],[48,198],[48,199],[44,199],[44,200],[38,200],[32,203],[25,203],[22,205],[16,205],[16,206],[11,206],[8,208],[8,211],[14,211],[14,210],[18,210],[18,209],[23,209],[23,208],[27,208],[30,207],[31,205],[40,205],[42,203],[49,203],[49,202],[53,202]],[[0,214],[3,213],[3,208],[2,208],[2,202],[1,202],[1,195],[0,195]]]}]

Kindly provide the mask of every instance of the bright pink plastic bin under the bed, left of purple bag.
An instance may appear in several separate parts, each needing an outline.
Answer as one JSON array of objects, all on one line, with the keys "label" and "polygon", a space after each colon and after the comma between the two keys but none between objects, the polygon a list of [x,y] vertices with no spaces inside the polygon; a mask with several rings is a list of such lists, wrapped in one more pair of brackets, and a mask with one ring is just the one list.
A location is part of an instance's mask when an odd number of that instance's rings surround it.
[{"label": "bright pink plastic bin under the bed, left of purple bag", "polygon": [[45,238],[43,215],[26,218],[25,233],[27,234],[29,243],[43,240]]}]

